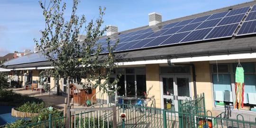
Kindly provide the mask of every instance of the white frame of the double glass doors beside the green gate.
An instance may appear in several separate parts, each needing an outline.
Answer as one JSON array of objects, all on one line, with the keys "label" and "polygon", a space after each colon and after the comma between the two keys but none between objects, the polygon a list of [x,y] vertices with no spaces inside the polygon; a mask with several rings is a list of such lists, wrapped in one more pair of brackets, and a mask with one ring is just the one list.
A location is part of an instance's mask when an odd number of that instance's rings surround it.
[{"label": "white frame of the double glass doors beside the green gate", "polygon": [[[189,93],[190,97],[192,97],[191,91],[191,78],[190,74],[168,74],[168,75],[160,75],[160,89],[161,89],[161,108],[164,109],[164,98],[173,99],[174,100],[174,107],[175,111],[178,110],[178,100],[186,100],[190,99],[189,97],[178,96],[178,85],[177,85],[177,78],[188,78],[189,80]],[[174,95],[173,96],[166,96],[164,95],[163,89],[163,78],[173,78],[174,79]]]}]

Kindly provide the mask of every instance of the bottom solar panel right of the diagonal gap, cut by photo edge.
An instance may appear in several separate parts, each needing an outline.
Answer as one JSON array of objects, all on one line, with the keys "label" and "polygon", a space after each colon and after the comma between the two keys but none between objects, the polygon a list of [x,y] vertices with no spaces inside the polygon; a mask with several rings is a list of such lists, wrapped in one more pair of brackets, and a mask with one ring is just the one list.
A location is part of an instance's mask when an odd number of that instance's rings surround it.
[{"label": "bottom solar panel right of the diagonal gap, cut by photo edge", "polygon": [[244,22],[240,27],[237,36],[248,35],[256,33],[256,20]]}]

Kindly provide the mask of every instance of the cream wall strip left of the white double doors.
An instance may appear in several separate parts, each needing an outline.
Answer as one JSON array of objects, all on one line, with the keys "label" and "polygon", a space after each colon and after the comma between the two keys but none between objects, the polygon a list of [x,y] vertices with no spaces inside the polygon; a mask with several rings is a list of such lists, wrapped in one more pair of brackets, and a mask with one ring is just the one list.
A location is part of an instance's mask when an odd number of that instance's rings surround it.
[{"label": "cream wall strip left of the white double doors", "polygon": [[150,106],[155,99],[155,107],[161,108],[159,64],[146,64],[146,93],[147,105]]}]

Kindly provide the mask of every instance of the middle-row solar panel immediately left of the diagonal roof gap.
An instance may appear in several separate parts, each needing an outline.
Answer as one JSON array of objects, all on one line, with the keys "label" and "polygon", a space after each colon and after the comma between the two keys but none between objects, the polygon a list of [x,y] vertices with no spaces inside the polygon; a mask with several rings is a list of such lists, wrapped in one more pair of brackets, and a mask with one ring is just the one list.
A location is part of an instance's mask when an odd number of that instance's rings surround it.
[{"label": "middle-row solar panel immediately left of the diagonal roof gap", "polygon": [[239,14],[235,16],[225,17],[223,18],[217,26],[239,23],[245,17],[245,14]]}]

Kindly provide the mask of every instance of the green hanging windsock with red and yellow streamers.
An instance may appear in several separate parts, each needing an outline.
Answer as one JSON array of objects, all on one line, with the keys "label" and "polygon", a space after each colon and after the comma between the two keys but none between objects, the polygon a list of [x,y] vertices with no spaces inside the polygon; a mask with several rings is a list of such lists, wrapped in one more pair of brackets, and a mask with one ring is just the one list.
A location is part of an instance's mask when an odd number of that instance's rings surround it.
[{"label": "green hanging windsock with red and yellow streamers", "polygon": [[234,102],[234,108],[241,109],[244,107],[244,68],[237,67],[236,70],[236,83],[235,83],[235,90],[236,90],[236,101]]}]

